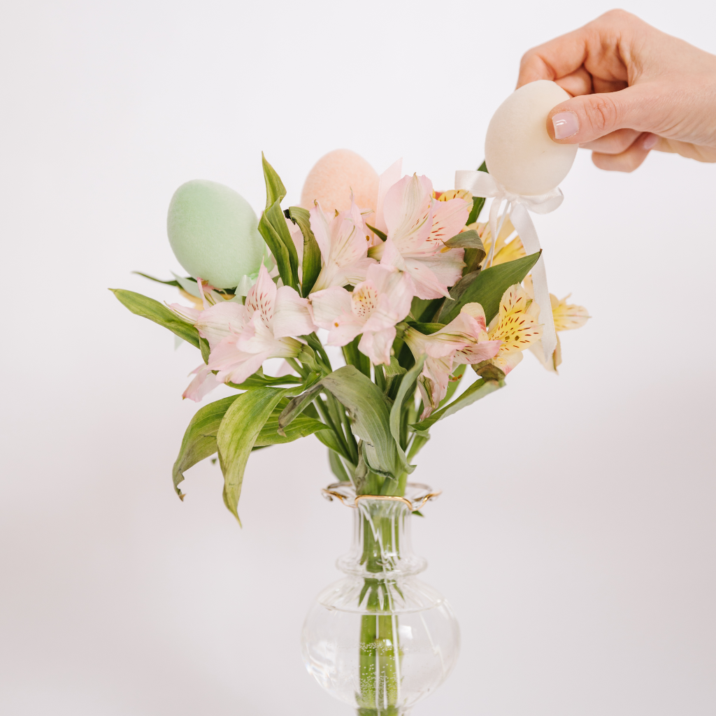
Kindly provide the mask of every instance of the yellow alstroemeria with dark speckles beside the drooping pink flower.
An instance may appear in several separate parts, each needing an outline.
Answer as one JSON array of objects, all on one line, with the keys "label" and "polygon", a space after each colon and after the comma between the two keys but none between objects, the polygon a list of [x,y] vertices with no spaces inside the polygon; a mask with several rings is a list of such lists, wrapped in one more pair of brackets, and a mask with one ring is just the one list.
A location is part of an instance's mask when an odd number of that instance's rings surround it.
[{"label": "yellow alstroemeria with dark speckles beside the drooping pink flower", "polygon": [[490,360],[508,374],[521,360],[524,349],[542,337],[538,324],[539,306],[527,295],[520,284],[510,286],[500,301],[500,312],[490,321],[488,338],[502,341],[498,354]]}]

